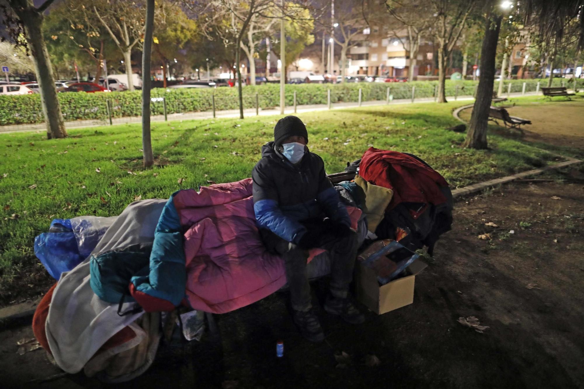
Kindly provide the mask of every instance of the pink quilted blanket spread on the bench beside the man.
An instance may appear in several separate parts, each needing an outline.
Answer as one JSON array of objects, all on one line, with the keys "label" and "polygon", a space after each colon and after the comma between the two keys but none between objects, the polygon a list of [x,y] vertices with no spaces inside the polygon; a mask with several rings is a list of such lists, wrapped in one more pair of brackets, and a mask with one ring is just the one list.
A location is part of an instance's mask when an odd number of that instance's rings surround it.
[{"label": "pink quilted blanket spread on the bench beside the man", "polygon": [[[224,313],[269,296],[286,283],[284,263],[262,244],[253,213],[252,179],[175,194],[185,228],[186,299],[197,310]],[[361,210],[347,207],[352,227]],[[309,261],[322,249],[312,249]]]}]

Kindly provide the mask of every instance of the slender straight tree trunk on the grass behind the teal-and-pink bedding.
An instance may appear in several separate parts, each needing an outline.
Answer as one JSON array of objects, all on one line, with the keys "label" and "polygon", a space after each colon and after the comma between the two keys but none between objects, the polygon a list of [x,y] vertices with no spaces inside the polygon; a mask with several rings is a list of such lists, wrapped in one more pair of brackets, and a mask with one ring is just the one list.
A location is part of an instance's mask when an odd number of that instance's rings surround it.
[{"label": "slender straight tree trunk on the grass behind the teal-and-pink bedding", "polygon": [[[146,2],[146,20],[144,26],[144,47],[142,48],[142,156],[144,167],[154,165],[152,139],[150,137],[150,61],[152,54],[152,30],[154,29],[154,0]],[[127,67],[126,67],[127,69]],[[131,66],[128,84],[131,85]],[[128,85],[128,88],[129,86]]]}]

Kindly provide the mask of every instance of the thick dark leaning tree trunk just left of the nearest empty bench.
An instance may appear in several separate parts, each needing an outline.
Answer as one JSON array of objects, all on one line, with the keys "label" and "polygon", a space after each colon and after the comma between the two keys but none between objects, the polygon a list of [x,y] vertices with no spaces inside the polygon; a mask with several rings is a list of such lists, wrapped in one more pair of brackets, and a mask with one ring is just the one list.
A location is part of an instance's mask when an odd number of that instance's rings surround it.
[{"label": "thick dark leaning tree trunk just left of the nearest empty bench", "polygon": [[[494,7],[494,6],[493,6]],[[487,148],[486,130],[495,81],[495,57],[502,16],[497,16],[493,9],[486,18],[485,37],[481,48],[481,78],[478,82],[477,98],[472,109],[471,121],[464,141],[465,147]],[[494,25],[495,28],[491,28]]]}]

